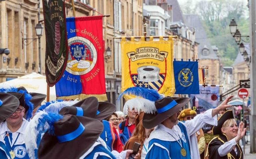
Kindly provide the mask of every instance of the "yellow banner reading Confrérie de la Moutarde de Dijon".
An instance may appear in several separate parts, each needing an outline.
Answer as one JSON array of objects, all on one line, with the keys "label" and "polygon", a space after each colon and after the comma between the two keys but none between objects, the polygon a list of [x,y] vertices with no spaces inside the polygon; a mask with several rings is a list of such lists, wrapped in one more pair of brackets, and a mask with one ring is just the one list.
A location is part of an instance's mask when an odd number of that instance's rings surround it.
[{"label": "yellow banner reading Confr\u00e9rie de la Moutarde de Dijon", "polygon": [[[175,92],[173,73],[173,40],[125,41],[122,37],[122,91],[129,87],[158,90],[160,94],[172,96]],[[132,98],[131,96],[127,98]]]}]

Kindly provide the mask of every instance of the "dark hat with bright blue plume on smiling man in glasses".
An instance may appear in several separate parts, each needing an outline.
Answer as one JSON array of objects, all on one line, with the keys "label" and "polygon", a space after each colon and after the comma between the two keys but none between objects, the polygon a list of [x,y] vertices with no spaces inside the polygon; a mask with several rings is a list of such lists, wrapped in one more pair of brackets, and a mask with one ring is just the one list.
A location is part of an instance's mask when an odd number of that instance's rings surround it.
[{"label": "dark hat with bright blue plume on smiling man in glasses", "polygon": [[18,90],[16,87],[0,88],[0,92],[8,93],[17,97],[20,101],[20,105],[24,106],[25,108],[25,113],[27,113],[26,119],[30,120],[34,109],[34,104],[30,101],[32,96],[28,92],[22,89]]}]

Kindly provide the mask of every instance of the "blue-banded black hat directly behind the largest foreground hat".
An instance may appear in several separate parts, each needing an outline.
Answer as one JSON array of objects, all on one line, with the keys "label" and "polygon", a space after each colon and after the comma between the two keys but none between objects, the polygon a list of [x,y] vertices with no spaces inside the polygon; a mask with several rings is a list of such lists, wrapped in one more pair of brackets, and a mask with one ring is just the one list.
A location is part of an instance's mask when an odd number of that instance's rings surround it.
[{"label": "blue-banded black hat directly behind the largest foreground hat", "polygon": [[71,114],[95,118],[98,112],[99,102],[96,97],[85,98],[70,107],[64,107],[60,110],[61,115]]}]

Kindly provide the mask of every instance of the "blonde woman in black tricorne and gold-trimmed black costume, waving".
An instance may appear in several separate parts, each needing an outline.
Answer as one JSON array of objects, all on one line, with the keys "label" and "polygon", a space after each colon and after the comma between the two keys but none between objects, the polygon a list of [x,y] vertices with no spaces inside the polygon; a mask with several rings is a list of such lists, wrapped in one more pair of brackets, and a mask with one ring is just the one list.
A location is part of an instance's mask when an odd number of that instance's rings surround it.
[{"label": "blonde woman in black tricorne and gold-trimmed black costume, waving", "polygon": [[226,111],[212,128],[214,137],[208,144],[209,159],[243,159],[243,151],[238,144],[245,134],[244,123],[237,127],[232,110]]}]

